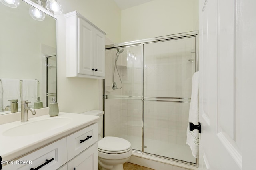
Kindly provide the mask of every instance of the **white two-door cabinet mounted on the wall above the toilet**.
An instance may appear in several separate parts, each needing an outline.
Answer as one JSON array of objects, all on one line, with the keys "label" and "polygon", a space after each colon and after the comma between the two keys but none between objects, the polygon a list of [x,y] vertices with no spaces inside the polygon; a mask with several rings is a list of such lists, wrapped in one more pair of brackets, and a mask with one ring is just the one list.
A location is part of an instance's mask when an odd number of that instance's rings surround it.
[{"label": "white two-door cabinet mounted on the wall above the toilet", "polygon": [[104,79],[106,33],[76,11],[64,16],[67,77]]}]

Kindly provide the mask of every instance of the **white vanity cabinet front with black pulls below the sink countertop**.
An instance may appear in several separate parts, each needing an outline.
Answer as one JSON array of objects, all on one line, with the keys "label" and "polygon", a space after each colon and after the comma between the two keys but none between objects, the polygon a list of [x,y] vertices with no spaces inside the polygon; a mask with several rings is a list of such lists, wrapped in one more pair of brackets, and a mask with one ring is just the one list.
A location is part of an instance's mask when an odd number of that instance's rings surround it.
[{"label": "white vanity cabinet front with black pulls below the sink countertop", "polygon": [[98,124],[78,130],[2,170],[98,170]]}]

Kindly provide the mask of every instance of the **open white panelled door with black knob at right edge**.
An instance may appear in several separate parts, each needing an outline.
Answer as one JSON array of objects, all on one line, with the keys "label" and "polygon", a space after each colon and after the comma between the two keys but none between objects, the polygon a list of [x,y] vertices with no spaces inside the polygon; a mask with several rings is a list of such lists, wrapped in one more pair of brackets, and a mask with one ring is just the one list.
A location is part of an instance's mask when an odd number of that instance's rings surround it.
[{"label": "open white panelled door with black knob at right edge", "polygon": [[200,170],[254,170],[256,1],[199,0]]}]

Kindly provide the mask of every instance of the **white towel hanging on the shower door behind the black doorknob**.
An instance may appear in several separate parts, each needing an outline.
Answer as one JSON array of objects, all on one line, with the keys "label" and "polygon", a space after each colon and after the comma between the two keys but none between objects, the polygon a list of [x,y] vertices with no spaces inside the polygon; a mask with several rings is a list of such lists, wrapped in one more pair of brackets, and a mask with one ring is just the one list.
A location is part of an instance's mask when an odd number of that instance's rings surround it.
[{"label": "white towel hanging on the shower door behind the black doorknob", "polygon": [[[189,107],[188,121],[194,125],[199,122],[199,71],[194,73],[192,77],[192,93]],[[199,131],[189,131],[189,124],[187,128],[187,144],[190,146],[192,155],[195,158],[199,157]]]}]

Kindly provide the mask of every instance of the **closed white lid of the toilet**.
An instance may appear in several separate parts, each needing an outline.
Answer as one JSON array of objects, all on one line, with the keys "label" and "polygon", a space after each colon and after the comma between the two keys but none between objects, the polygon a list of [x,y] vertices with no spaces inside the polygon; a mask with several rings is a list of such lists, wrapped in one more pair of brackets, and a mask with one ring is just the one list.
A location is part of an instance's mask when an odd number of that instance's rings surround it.
[{"label": "closed white lid of the toilet", "polygon": [[130,150],[131,143],[118,137],[104,137],[98,141],[98,149],[110,152]]}]

